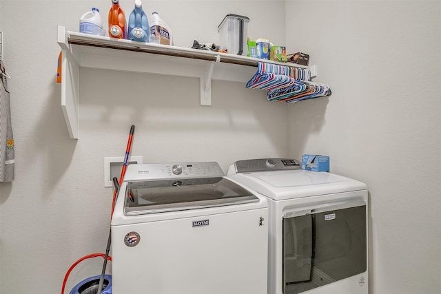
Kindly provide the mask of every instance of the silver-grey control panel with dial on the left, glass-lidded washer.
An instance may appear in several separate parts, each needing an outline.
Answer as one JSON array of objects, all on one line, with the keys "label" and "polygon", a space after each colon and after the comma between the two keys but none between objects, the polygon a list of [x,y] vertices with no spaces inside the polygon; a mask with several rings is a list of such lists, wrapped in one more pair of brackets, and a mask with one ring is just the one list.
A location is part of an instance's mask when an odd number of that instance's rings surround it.
[{"label": "silver-grey control panel with dial on the left, glass-lidded washer", "polygon": [[128,165],[124,181],[225,176],[217,162],[172,162]]}]

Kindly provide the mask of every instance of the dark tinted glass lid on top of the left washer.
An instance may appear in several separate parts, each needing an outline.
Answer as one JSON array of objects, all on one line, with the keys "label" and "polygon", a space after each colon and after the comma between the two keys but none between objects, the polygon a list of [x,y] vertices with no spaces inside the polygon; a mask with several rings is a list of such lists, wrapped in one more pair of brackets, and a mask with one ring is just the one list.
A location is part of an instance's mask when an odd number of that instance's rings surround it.
[{"label": "dark tinted glass lid on top of the left washer", "polygon": [[128,182],[125,193],[125,216],[259,201],[250,191],[224,177]]}]

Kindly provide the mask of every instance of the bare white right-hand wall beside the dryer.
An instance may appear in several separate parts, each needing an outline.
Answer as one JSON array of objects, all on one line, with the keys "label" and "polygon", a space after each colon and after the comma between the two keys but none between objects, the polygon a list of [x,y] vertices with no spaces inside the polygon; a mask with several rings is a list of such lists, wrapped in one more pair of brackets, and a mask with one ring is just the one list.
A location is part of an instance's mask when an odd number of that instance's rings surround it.
[{"label": "bare white right-hand wall beside the dryer", "polygon": [[289,154],[328,154],[331,171],[367,183],[371,293],[440,293],[441,2],[286,11],[287,45],[333,92],[289,108]]}]

